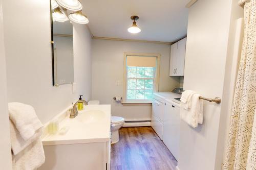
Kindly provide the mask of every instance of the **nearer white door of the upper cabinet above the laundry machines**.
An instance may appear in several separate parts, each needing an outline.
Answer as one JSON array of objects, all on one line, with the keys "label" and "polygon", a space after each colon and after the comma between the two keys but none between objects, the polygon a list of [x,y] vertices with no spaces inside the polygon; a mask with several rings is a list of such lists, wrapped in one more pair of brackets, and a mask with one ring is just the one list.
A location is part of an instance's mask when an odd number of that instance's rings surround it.
[{"label": "nearer white door of the upper cabinet above the laundry machines", "polygon": [[177,47],[177,61],[176,61],[176,76],[184,76],[184,65],[185,65],[185,54],[186,54],[186,38],[178,42]]}]

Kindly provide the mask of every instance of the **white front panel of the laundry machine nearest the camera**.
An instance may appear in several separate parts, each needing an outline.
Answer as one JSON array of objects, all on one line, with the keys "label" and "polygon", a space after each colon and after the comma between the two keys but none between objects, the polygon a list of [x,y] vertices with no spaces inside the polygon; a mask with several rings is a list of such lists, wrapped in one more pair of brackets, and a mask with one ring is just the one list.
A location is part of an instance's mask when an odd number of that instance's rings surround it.
[{"label": "white front panel of the laundry machine nearest the camera", "polygon": [[166,102],[164,107],[163,142],[173,156],[179,159],[180,107]]}]

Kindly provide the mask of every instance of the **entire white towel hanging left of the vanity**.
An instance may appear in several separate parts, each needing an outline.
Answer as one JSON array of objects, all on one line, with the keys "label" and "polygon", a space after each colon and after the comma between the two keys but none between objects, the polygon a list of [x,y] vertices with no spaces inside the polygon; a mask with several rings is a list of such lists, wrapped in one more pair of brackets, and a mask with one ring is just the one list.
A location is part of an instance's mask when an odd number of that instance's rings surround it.
[{"label": "entire white towel hanging left of the vanity", "polygon": [[13,169],[32,170],[41,166],[45,162],[40,140],[42,124],[34,108],[22,103],[9,103],[9,116]]}]

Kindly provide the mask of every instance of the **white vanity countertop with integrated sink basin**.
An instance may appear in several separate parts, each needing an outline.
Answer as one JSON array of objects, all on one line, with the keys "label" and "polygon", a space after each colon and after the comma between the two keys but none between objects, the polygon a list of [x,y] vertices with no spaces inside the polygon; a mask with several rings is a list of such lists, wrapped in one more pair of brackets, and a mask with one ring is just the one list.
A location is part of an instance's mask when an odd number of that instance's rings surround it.
[{"label": "white vanity countertop with integrated sink basin", "polygon": [[87,105],[75,118],[67,116],[59,129],[68,126],[65,135],[47,135],[43,145],[107,142],[110,140],[111,105]]}]

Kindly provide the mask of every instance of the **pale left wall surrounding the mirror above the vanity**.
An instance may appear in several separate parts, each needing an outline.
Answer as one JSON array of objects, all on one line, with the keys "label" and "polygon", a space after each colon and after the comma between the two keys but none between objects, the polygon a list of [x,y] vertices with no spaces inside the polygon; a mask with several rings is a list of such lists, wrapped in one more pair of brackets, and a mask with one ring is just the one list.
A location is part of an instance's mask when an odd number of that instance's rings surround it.
[{"label": "pale left wall surrounding the mirror above the vanity", "polygon": [[[8,101],[32,105],[42,123],[71,105],[78,94],[91,97],[91,37],[74,26],[74,82],[52,86],[50,0],[4,2]],[[90,75],[90,76],[89,76]]]}]

